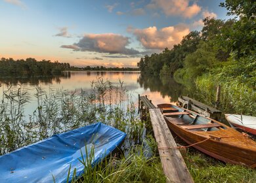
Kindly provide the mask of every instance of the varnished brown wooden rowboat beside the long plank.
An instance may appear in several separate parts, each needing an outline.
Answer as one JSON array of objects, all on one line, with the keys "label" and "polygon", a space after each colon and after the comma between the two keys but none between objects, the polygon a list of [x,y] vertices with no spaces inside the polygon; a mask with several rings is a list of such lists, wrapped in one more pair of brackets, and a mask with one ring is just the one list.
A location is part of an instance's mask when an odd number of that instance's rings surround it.
[{"label": "varnished brown wooden rowboat beside the long plank", "polygon": [[226,163],[256,167],[256,142],[211,118],[171,104],[158,105],[168,127],[185,142]]}]

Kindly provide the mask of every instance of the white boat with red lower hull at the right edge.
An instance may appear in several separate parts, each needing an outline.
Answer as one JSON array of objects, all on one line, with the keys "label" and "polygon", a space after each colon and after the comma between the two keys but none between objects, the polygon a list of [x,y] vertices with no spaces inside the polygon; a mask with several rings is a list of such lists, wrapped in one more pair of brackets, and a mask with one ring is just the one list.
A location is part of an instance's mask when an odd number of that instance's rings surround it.
[{"label": "white boat with red lower hull at the right edge", "polygon": [[235,129],[242,129],[247,133],[256,135],[256,117],[239,114],[225,114],[228,123]]}]

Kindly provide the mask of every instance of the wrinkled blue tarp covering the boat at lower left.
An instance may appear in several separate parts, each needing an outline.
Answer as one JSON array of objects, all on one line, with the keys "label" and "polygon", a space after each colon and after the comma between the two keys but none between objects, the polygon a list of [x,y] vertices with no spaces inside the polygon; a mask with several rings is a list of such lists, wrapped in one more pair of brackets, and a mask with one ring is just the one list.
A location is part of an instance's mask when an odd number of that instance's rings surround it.
[{"label": "wrinkled blue tarp covering the boat at lower left", "polygon": [[122,131],[101,123],[53,135],[0,156],[0,182],[53,182],[53,176],[55,182],[66,182],[70,165],[70,178],[74,169],[77,177],[83,174],[84,165],[79,159],[82,159],[81,151],[86,157],[85,145],[89,153],[94,146],[93,163],[96,164],[108,156],[125,136]]}]

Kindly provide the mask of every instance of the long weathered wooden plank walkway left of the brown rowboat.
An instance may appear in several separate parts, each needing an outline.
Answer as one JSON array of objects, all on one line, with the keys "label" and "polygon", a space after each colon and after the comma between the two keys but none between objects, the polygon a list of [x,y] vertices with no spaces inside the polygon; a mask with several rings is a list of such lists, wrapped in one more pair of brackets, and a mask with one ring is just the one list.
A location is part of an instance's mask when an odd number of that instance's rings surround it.
[{"label": "long weathered wooden plank walkway left of the brown rowboat", "polygon": [[177,145],[161,114],[160,108],[150,109],[149,112],[167,182],[194,182],[184,163],[181,152],[176,148]]}]

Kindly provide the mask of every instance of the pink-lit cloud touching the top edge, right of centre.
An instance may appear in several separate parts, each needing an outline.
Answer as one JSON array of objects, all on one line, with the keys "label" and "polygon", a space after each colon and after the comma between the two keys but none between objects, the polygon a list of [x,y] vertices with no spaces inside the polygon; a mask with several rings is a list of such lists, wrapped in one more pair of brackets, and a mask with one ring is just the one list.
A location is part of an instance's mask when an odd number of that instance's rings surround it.
[{"label": "pink-lit cloud touching the top edge, right of centre", "polygon": [[166,16],[182,16],[192,18],[201,11],[201,7],[196,3],[189,5],[190,0],[152,0],[146,7],[149,9],[163,10]]}]

